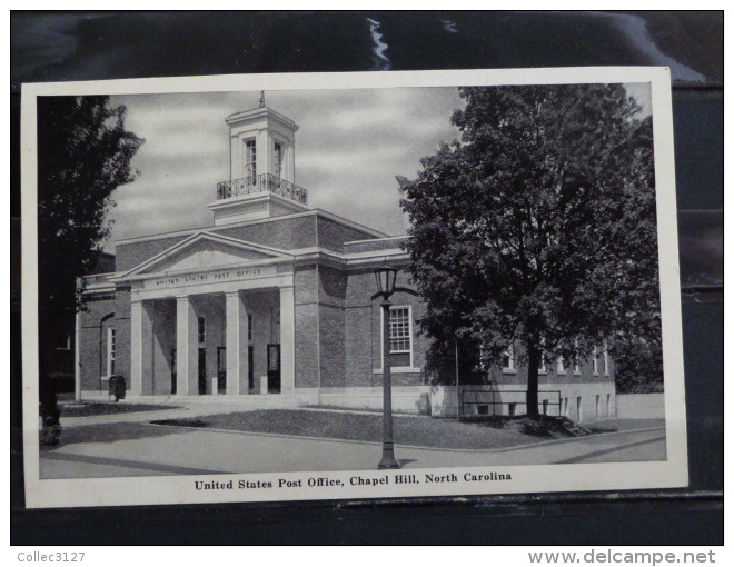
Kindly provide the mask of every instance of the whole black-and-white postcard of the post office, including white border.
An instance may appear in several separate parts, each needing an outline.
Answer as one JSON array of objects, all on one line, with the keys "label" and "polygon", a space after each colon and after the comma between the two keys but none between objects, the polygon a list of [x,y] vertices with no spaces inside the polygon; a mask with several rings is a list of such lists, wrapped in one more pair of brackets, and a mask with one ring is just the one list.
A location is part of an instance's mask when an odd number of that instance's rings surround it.
[{"label": "whole black-and-white postcard of the post office, including white border", "polygon": [[29,507],[687,485],[669,70],[358,74],[23,86]]}]

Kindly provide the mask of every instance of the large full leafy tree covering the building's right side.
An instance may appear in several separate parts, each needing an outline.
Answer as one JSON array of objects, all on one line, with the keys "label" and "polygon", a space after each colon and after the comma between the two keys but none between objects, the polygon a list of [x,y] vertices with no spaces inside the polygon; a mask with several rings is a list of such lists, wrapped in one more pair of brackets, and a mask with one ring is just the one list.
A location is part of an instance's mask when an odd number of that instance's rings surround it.
[{"label": "large full leafy tree covering the building's right side", "polygon": [[460,140],[398,178],[428,360],[457,338],[486,365],[517,346],[537,417],[543,361],[659,342],[652,118],[621,84],[459,93]]}]

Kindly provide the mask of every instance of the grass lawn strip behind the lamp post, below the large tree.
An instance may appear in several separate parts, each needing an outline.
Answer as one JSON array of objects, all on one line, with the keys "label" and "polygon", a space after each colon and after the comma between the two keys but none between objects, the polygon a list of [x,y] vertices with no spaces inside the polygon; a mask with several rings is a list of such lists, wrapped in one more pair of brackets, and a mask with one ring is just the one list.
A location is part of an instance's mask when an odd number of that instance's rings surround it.
[{"label": "grass lawn strip behind the lamp post, below the large tree", "polygon": [[[383,440],[383,418],[379,414],[268,409],[153,422],[359,441]],[[394,416],[393,422],[396,444],[421,447],[497,449],[562,437],[559,434],[545,437],[527,435],[523,432],[522,418],[459,424],[448,419]]]}]

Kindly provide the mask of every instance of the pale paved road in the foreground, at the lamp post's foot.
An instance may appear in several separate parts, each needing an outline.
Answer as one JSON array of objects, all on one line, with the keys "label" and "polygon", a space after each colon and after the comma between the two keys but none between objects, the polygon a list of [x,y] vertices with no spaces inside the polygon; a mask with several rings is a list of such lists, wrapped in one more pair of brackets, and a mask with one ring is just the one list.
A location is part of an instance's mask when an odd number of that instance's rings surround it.
[{"label": "pale paved road in the foreground, at the lamp post's foot", "polygon": [[[77,418],[73,425],[101,421],[102,417]],[[145,419],[152,418],[148,414]],[[380,445],[375,442],[172,428],[135,422],[136,419],[140,421],[139,414],[136,418],[125,416],[126,438],[73,442],[42,451],[41,478],[371,470],[380,457]],[[663,428],[647,428],[506,450],[398,445],[395,452],[404,468],[662,460],[664,435]]]}]

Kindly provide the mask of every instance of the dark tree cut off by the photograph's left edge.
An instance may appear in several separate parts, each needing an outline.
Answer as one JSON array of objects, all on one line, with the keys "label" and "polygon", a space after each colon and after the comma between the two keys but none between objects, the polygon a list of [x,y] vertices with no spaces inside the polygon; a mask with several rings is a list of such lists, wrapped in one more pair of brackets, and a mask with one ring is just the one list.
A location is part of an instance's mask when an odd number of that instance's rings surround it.
[{"label": "dark tree cut off by the photograph's left edge", "polygon": [[143,142],[109,97],[38,99],[39,390],[58,422],[49,359],[59,327],[82,307],[82,285],[108,237],[112,191],[131,182]]}]

